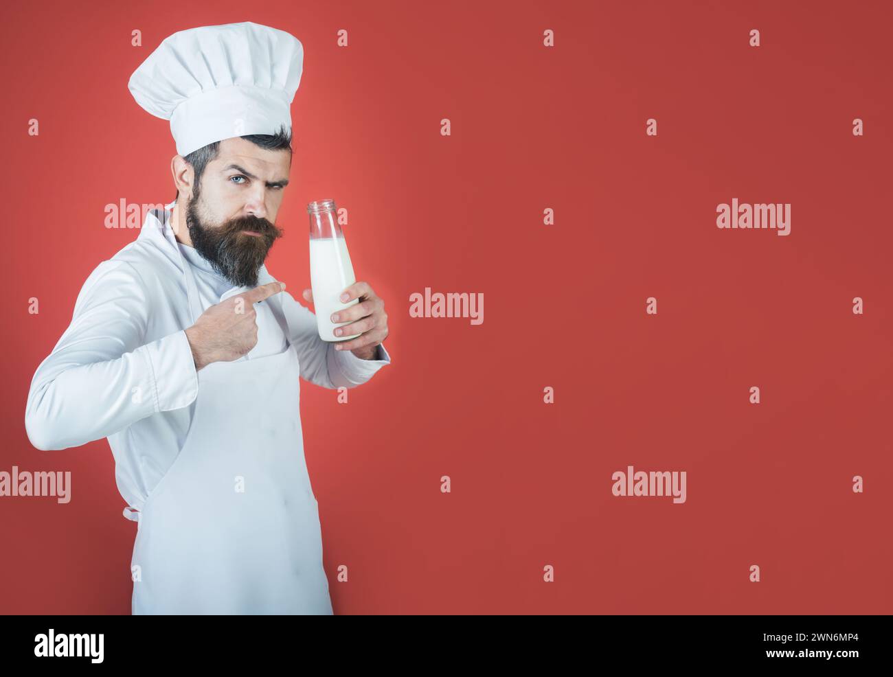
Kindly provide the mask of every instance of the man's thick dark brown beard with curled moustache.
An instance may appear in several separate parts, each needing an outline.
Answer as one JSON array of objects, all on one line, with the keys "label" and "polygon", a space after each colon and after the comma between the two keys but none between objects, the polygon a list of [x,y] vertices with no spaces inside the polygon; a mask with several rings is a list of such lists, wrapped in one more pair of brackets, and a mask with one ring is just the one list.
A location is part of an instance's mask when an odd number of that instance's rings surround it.
[{"label": "man's thick dark brown beard with curled moustache", "polygon": [[[190,200],[186,208],[186,225],[196,252],[236,287],[256,287],[257,273],[273,242],[282,237],[282,231],[270,221],[250,214],[225,221],[221,226],[208,226],[198,215],[197,201],[197,197]],[[243,230],[261,235],[247,235]]]}]

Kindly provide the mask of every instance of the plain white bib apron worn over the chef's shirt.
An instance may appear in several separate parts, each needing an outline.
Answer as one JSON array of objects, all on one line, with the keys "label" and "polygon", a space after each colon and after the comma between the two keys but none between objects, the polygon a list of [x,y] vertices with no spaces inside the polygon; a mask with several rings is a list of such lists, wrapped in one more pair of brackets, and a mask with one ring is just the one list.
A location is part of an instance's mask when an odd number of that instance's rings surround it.
[{"label": "plain white bib apron worn over the chef's shirt", "polygon": [[[195,322],[202,309],[183,265]],[[299,375],[290,343],[198,372],[183,447],[135,511],[133,614],[332,614]]]}]

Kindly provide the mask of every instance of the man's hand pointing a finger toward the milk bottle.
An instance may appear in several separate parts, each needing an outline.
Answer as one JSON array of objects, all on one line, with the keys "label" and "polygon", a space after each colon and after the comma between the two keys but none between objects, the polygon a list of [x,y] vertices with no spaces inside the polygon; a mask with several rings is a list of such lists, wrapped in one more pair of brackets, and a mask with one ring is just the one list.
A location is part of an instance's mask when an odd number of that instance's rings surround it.
[{"label": "man's hand pointing a finger toward the milk bottle", "polygon": [[268,282],[212,305],[186,330],[196,372],[213,362],[232,362],[257,345],[255,303],[285,290]]}]

